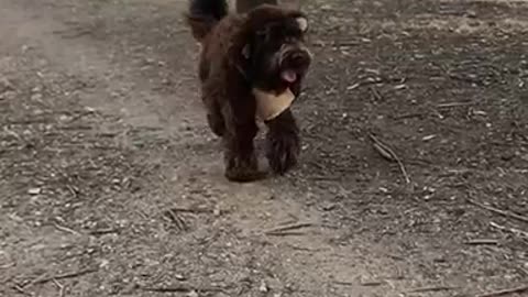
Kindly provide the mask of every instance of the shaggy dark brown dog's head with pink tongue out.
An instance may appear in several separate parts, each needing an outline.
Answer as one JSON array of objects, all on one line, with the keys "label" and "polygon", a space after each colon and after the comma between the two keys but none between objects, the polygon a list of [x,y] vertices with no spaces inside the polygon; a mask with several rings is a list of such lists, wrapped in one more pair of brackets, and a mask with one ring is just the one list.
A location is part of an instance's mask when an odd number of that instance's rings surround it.
[{"label": "shaggy dark brown dog's head with pink tongue out", "polygon": [[261,6],[244,18],[237,66],[253,87],[282,91],[300,84],[311,63],[305,45],[307,18],[274,6]]}]

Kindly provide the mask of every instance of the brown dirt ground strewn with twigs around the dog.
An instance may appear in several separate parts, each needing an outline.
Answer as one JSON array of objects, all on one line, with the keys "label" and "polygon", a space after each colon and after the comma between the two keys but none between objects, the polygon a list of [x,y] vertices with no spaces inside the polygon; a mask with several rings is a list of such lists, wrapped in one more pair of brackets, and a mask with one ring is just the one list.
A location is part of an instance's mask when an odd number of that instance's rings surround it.
[{"label": "brown dirt ground strewn with twigs around the dog", "polygon": [[185,8],[0,0],[0,296],[528,296],[528,1],[306,0],[301,164],[248,185]]}]

